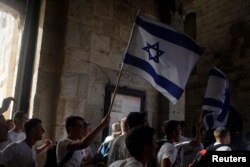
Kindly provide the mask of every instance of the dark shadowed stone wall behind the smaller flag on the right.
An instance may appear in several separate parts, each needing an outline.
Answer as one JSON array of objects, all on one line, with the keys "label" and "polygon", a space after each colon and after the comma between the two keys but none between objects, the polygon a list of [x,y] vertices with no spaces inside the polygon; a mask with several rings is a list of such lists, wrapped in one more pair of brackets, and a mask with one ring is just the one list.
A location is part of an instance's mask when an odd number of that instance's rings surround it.
[{"label": "dark shadowed stone wall behind the smaller flag on the right", "polygon": [[185,1],[185,14],[196,13],[197,41],[205,48],[196,74],[189,79],[186,89],[186,120],[191,129],[197,121],[213,65],[228,77],[231,87],[231,104],[238,110],[244,128],[250,127],[250,1]]}]

